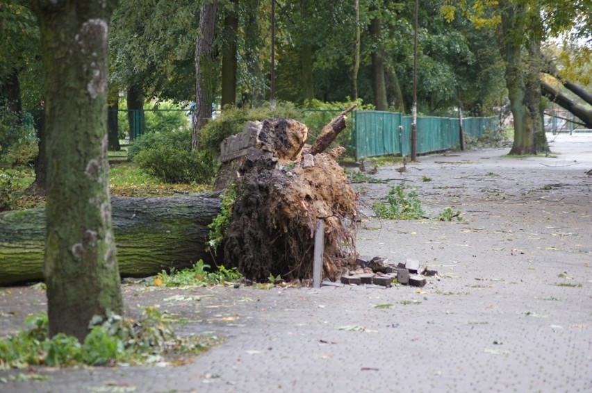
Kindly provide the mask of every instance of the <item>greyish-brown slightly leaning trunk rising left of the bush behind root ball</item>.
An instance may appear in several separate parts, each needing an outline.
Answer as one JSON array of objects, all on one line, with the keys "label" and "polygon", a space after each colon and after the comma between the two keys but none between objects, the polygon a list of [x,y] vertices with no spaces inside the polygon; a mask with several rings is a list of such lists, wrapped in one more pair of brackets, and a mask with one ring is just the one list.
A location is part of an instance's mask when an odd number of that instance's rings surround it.
[{"label": "greyish-brown slightly leaning trunk rising left of the bush behind root ball", "polygon": [[212,117],[214,101],[213,43],[216,26],[217,0],[207,1],[199,11],[199,35],[195,44],[195,97],[191,147],[199,150],[199,131]]}]

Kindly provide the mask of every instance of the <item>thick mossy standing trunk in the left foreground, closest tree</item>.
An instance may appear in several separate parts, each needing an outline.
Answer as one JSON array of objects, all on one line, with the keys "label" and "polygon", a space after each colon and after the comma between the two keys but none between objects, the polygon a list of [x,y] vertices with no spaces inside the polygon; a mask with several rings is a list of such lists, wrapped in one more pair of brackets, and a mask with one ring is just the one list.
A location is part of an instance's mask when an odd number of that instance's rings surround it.
[{"label": "thick mossy standing trunk in the left foreground, closest tree", "polygon": [[115,3],[33,1],[47,105],[49,333],[80,341],[94,315],[124,311],[107,163],[108,33]]}]

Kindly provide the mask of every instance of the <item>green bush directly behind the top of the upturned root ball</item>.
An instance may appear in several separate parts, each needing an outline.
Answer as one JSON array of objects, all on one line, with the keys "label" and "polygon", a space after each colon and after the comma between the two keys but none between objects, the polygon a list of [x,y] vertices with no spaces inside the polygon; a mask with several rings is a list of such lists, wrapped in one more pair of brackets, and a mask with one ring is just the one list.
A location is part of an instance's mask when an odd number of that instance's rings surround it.
[{"label": "green bush directly behind the top of the upturned root ball", "polygon": [[259,108],[224,108],[222,114],[216,119],[208,122],[202,128],[199,139],[200,147],[212,153],[213,156],[220,154],[220,144],[230,135],[238,134],[245,128],[247,121],[263,121],[269,118],[283,117],[303,122],[302,111],[298,110],[293,103],[278,103],[276,110],[269,107]]}]

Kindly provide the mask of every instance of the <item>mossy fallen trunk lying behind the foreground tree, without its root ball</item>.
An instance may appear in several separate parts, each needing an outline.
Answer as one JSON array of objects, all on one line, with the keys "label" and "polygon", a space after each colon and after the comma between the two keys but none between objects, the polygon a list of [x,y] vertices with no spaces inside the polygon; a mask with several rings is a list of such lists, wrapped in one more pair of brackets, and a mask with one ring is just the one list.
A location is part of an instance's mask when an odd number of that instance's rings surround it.
[{"label": "mossy fallen trunk lying behind the foreground tree, without its root ball", "polygon": [[[122,277],[211,264],[208,224],[220,212],[215,194],[111,199],[117,262]],[[45,209],[0,214],[0,285],[43,279]]]}]

